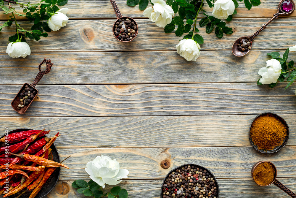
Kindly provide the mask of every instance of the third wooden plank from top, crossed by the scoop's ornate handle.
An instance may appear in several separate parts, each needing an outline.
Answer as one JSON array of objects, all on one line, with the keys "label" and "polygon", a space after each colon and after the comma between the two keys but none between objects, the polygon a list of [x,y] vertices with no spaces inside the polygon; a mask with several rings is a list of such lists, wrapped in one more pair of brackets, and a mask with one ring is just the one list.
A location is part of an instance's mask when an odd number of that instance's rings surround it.
[{"label": "third wooden plank from top, crossed by the scoop's ornate handle", "polygon": [[[0,84],[33,82],[38,64],[44,57],[50,58],[54,65],[50,73],[40,80],[38,87],[73,82],[113,85],[257,82],[260,78],[257,73],[266,66],[265,61],[271,58],[267,53],[271,51],[252,51],[242,58],[233,56],[231,51],[202,51],[196,62],[188,62],[176,52],[163,51],[145,52],[144,56],[143,52],[33,53],[25,59],[10,58],[6,53],[0,53]],[[282,55],[284,51],[280,53]],[[289,60],[295,57],[291,52]],[[122,61],[125,58],[131,61]]]}]

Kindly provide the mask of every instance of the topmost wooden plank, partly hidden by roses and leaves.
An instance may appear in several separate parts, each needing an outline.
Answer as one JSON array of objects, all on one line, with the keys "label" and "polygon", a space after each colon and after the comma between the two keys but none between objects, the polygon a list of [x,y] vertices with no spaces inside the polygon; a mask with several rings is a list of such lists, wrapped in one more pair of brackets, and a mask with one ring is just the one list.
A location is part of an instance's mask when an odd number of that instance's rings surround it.
[{"label": "topmost wooden plank, partly hidden by roses and leaves", "polygon": [[[27,1],[20,1],[27,2]],[[31,2],[34,2],[31,1]],[[129,16],[133,18],[144,18],[143,11],[139,10],[138,6],[129,7],[126,5],[126,0],[117,0],[116,1],[120,12],[123,16]],[[261,0],[261,5],[258,7],[252,7],[251,10],[248,10],[244,6],[244,2],[239,2],[239,7],[236,9],[237,14],[234,15],[235,18],[249,18],[249,17],[273,17],[273,14],[276,13],[277,7],[279,5],[279,0]],[[149,7],[151,4],[149,3]],[[69,18],[116,18],[116,15],[113,11],[112,5],[109,0],[98,0],[98,1],[86,1],[86,0],[71,0],[63,6],[68,7],[69,12],[67,16]],[[62,7],[61,7],[62,8]],[[207,14],[210,14],[213,8],[204,7]],[[22,9],[17,9],[19,12]],[[296,16],[296,13],[290,15],[292,17]],[[199,17],[203,17],[202,14]],[[7,19],[7,15],[0,15],[0,19]],[[22,17],[19,17],[22,18]],[[267,20],[268,21],[268,20]],[[267,22],[266,21],[266,22]]]}]

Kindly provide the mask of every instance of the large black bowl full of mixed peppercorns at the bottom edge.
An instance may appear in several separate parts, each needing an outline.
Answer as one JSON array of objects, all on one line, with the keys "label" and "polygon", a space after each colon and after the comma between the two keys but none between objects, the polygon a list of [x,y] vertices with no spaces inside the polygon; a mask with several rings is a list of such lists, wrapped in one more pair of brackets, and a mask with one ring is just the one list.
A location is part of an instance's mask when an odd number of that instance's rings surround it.
[{"label": "large black bowl full of mixed peppercorns at the bottom edge", "polygon": [[218,198],[219,185],[205,167],[186,164],[175,168],[165,177],[161,198]]}]

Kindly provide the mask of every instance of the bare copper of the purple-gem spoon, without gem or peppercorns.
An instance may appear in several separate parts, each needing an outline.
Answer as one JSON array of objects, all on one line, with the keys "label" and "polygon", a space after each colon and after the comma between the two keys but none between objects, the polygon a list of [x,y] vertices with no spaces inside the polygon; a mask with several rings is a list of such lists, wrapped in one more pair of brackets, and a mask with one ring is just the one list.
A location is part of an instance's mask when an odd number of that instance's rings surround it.
[{"label": "bare copper of the purple-gem spoon, without gem or peppercorns", "polygon": [[[292,10],[290,10],[289,12],[285,11],[282,7],[282,4],[285,2],[285,1],[288,1],[292,4]],[[250,36],[250,39],[252,40],[252,42],[254,41],[254,38],[262,31],[266,28],[266,26],[271,23],[271,21],[273,21],[274,19],[277,19],[279,17],[279,15],[289,15],[289,14],[292,14],[295,10],[295,3],[293,0],[281,0],[279,2],[279,7],[278,7],[278,11],[276,14],[274,14],[274,17],[271,18],[271,20],[269,20],[267,23],[263,24],[261,26],[261,28],[259,30],[257,30],[254,34],[252,34],[252,36]],[[232,53],[234,54],[234,56],[238,56],[238,57],[241,57],[241,56],[244,56],[246,55],[251,49],[249,49],[248,51],[239,51],[238,50],[238,44],[239,42],[242,40],[242,39],[247,39],[247,37],[240,37],[238,38],[232,45]],[[253,45],[253,44],[252,44]],[[252,45],[250,45],[250,47],[252,48]]]}]

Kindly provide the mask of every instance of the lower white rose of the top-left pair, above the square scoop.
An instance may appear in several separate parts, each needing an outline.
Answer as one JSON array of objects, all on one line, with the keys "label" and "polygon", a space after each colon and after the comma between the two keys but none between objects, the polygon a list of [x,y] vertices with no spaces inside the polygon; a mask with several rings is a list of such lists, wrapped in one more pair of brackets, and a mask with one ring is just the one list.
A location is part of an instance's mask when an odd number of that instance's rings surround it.
[{"label": "lower white rose of the top-left pair, above the square scoop", "polygon": [[26,42],[11,42],[7,45],[6,53],[12,58],[26,58],[31,54],[31,49]]}]

